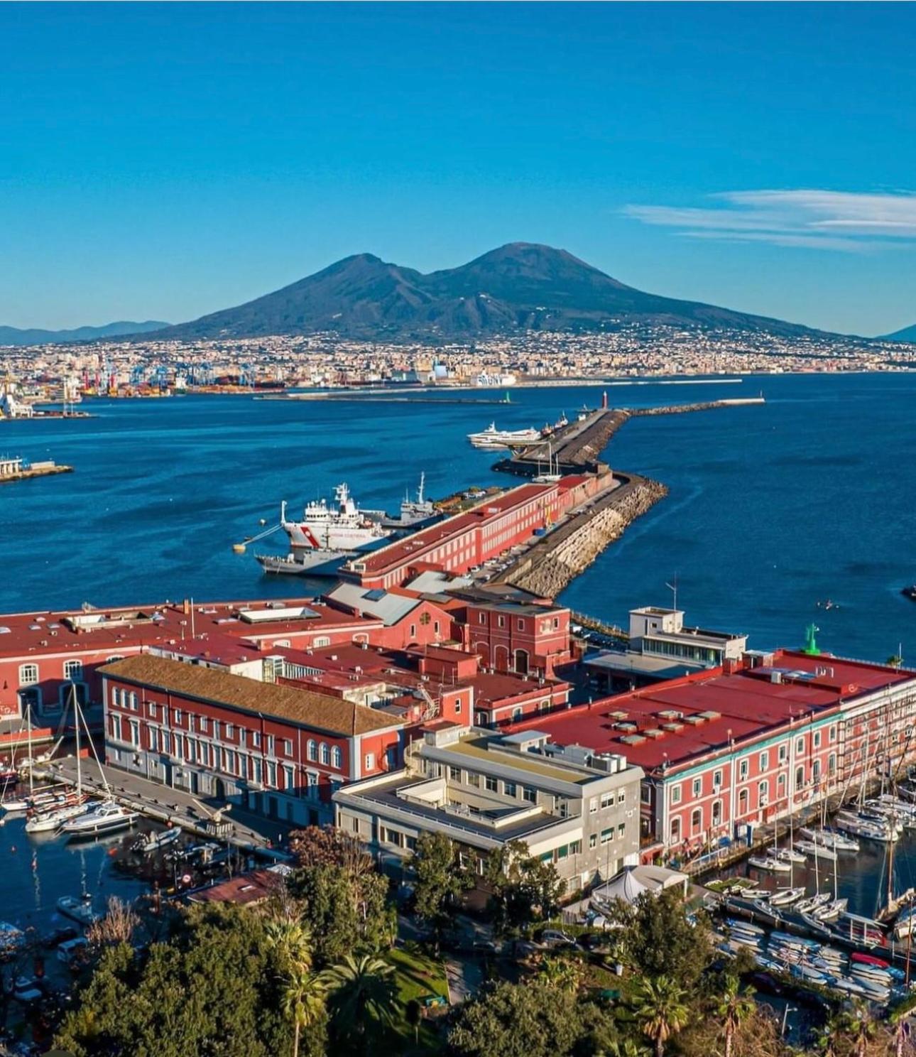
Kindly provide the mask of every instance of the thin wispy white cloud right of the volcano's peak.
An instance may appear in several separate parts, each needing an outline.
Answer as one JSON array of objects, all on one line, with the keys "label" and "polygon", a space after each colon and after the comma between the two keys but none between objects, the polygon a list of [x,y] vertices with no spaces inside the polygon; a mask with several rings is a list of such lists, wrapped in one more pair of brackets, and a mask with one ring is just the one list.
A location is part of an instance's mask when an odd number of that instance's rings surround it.
[{"label": "thin wispy white cloud right of the volcano's peak", "polygon": [[709,206],[629,205],[628,217],[694,239],[866,252],[916,240],[916,192],[727,191]]}]

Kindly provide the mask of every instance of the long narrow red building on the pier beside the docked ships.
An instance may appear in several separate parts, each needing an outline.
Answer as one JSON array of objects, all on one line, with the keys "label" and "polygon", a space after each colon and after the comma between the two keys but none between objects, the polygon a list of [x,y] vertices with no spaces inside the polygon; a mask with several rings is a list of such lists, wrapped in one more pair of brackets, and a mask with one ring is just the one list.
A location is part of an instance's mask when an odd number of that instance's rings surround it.
[{"label": "long narrow red building on the pier beside the docked ships", "polygon": [[397,587],[412,573],[433,567],[464,573],[508,548],[524,543],[574,506],[607,487],[611,475],[574,475],[547,484],[523,484],[424,528],[407,539],[354,558],[343,575],[362,587]]}]

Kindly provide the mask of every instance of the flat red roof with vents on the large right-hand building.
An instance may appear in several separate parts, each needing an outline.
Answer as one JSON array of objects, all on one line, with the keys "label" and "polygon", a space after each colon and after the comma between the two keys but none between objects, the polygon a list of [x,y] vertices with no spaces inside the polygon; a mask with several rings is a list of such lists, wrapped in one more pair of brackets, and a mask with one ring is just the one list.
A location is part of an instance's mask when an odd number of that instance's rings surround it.
[{"label": "flat red roof with vents on the large right-hand building", "polygon": [[[512,724],[511,729],[542,730],[560,745],[619,753],[652,771],[666,762],[672,766],[693,762],[732,741],[752,742],[789,721],[829,712],[843,701],[913,679],[910,672],[881,665],[779,651],[771,666],[729,674],[721,668],[696,672],[590,705],[535,716]],[[647,735],[647,730],[657,733]],[[624,740],[634,736],[640,740]]]}]

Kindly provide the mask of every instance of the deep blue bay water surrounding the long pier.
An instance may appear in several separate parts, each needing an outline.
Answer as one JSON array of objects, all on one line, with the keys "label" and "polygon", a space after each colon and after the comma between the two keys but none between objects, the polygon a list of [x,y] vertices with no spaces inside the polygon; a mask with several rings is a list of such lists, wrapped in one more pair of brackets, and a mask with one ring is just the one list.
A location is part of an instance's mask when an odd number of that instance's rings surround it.
[{"label": "deep blue bay water surrounding the long pier", "polygon": [[[663,481],[667,499],[564,593],[605,619],[668,604],[677,576],[688,619],[883,661],[916,660],[916,426],[912,375],[800,375],[741,384],[524,389],[509,406],[233,396],[92,401],[97,418],[0,424],[0,452],[51,457],[76,472],[0,488],[0,611],[283,597],[320,582],[269,579],[231,543],[347,481],[368,507],[396,509],[422,470],[443,496],[511,480],[465,434],[519,428],[597,406],[755,395],[763,407],[637,419],[612,440],[613,466]],[[479,394],[462,394],[472,400]],[[281,536],[256,545],[285,550]],[[819,609],[831,599],[837,608]]]}]

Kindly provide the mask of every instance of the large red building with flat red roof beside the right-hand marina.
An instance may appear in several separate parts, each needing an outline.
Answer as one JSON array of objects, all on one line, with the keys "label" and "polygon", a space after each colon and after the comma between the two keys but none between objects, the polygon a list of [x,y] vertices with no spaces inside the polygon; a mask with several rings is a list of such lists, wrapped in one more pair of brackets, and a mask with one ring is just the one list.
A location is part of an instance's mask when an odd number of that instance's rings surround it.
[{"label": "large red building with flat red roof beside the right-hand marina", "polygon": [[780,650],[512,729],[642,767],[647,855],[698,852],[916,754],[916,675]]}]

